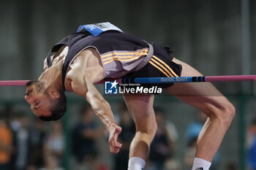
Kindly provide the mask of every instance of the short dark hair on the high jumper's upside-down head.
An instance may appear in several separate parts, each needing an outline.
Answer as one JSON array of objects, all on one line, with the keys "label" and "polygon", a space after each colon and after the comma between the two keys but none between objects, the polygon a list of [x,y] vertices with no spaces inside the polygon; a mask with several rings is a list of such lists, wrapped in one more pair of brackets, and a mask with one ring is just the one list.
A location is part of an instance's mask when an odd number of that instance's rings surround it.
[{"label": "short dark hair on the high jumper's upside-down head", "polygon": [[55,121],[64,116],[67,110],[67,98],[64,91],[59,91],[60,97],[50,101],[50,116],[39,116],[40,120]]}]

